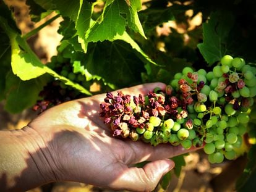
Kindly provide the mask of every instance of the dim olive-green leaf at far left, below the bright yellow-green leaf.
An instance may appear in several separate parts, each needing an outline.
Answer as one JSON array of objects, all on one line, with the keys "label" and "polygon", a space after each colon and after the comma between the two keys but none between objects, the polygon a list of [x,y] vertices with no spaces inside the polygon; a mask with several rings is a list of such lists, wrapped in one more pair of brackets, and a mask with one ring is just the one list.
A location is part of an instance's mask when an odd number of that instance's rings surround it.
[{"label": "dim olive-green leaf at far left, below the bright yellow-green leaf", "polygon": [[22,81],[19,77],[9,72],[6,76],[6,103],[4,108],[11,113],[22,112],[23,109],[32,107],[38,100],[38,94],[46,85],[48,77],[45,75]]}]

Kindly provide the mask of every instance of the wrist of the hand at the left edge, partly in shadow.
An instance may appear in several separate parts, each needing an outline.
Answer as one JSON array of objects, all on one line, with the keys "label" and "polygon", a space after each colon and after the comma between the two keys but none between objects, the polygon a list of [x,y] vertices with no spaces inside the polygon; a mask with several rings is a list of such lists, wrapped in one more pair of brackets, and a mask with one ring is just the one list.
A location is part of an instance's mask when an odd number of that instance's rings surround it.
[{"label": "wrist of the hand at the left edge, partly in shadow", "polygon": [[25,191],[56,180],[51,153],[33,128],[1,131],[0,184],[7,191]]}]

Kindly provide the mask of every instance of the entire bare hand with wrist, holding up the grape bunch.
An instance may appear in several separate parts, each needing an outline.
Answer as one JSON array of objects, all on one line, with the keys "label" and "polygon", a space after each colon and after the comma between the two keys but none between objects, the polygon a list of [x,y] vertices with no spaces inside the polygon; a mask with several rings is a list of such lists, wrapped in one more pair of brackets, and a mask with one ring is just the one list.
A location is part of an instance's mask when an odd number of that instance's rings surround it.
[{"label": "entire bare hand with wrist, holding up the grape bunch", "polygon": [[[148,83],[121,91],[145,95],[156,86],[165,88],[163,83]],[[105,96],[65,102],[21,130],[2,131],[0,186],[24,191],[48,182],[74,181],[114,190],[152,191],[174,167],[168,158],[198,149],[114,138],[99,116]],[[143,161],[149,162],[133,167]]]}]

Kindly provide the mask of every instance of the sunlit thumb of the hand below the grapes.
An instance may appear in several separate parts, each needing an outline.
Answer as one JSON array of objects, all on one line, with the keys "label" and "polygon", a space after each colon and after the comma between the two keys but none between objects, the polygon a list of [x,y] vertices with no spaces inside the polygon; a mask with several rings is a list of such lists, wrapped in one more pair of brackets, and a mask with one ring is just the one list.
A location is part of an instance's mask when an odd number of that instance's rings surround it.
[{"label": "sunlit thumb of the hand below the grapes", "polygon": [[143,168],[127,168],[111,184],[111,188],[130,191],[153,191],[161,177],[173,167],[173,161],[162,159],[149,162]]}]

